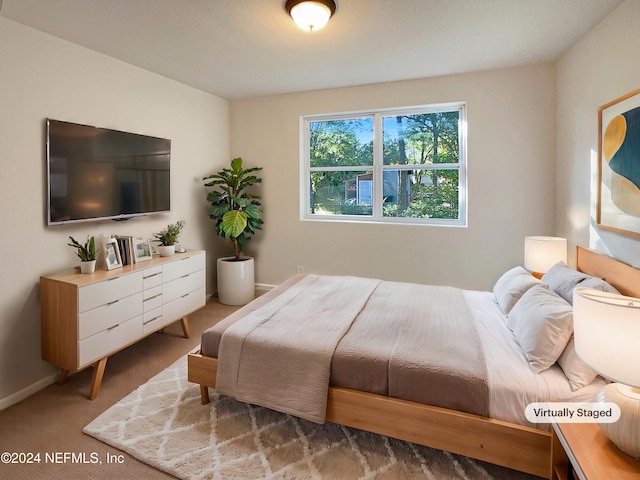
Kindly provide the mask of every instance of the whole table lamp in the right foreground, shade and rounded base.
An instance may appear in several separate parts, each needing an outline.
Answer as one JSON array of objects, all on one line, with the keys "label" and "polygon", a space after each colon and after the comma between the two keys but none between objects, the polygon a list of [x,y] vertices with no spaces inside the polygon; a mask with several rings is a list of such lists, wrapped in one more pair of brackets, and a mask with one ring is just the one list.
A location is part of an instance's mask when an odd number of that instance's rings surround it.
[{"label": "whole table lamp in the right foreground, shade and rounded base", "polygon": [[615,423],[600,428],[624,453],[640,458],[640,299],[578,287],[573,291],[576,353],[612,380],[597,401],[620,407]]}]

